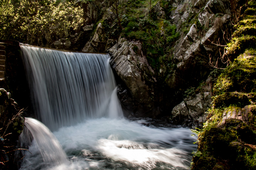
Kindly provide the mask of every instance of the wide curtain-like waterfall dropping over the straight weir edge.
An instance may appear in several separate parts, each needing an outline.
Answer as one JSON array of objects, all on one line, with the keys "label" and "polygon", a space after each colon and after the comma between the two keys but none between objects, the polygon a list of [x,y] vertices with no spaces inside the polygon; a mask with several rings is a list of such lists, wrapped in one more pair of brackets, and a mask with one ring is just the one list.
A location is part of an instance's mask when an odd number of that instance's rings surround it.
[{"label": "wide curtain-like waterfall dropping over the straight weir edge", "polygon": [[22,44],[21,51],[37,117],[51,130],[86,118],[122,117],[109,55]]}]

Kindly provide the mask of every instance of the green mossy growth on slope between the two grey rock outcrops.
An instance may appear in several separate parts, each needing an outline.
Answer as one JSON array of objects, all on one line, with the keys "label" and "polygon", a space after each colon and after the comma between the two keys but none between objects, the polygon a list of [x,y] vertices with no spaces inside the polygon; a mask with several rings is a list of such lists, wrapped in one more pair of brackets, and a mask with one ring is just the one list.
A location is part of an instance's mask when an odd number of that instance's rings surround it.
[{"label": "green mossy growth on slope between the two grey rock outcrops", "polygon": [[161,65],[172,65],[169,60],[172,51],[171,46],[180,36],[179,33],[176,33],[176,25],[164,19],[154,21],[149,16],[143,18],[131,16],[128,17],[127,23],[123,25],[124,36],[127,39],[142,42],[143,52],[146,54],[151,67],[158,70]]}]

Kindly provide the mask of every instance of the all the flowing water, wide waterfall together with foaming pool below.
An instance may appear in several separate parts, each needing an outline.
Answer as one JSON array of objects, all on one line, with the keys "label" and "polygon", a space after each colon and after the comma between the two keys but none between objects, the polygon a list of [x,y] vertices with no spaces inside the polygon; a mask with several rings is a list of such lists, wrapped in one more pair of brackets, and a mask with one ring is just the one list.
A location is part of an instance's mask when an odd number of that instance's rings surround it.
[{"label": "all the flowing water, wide waterfall together with foaming pool below", "polygon": [[[145,120],[123,118],[108,55],[27,45],[21,45],[21,50],[35,112],[38,119],[53,131],[52,136],[45,137],[40,132],[46,131],[44,125],[26,118],[27,130],[24,131],[27,133],[22,133],[21,142],[30,144],[31,153],[25,152],[22,168],[188,168],[191,152],[196,150],[193,144],[196,137],[186,128],[144,126]],[[32,137],[26,137],[27,134]],[[32,142],[26,142],[24,138],[31,138]],[[47,145],[41,145],[43,138],[51,140],[43,142]],[[49,145],[58,143],[57,140],[62,148],[55,147],[55,151]],[[62,156],[50,153],[53,150]],[[49,153],[52,161],[47,161],[44,153]]]}]

